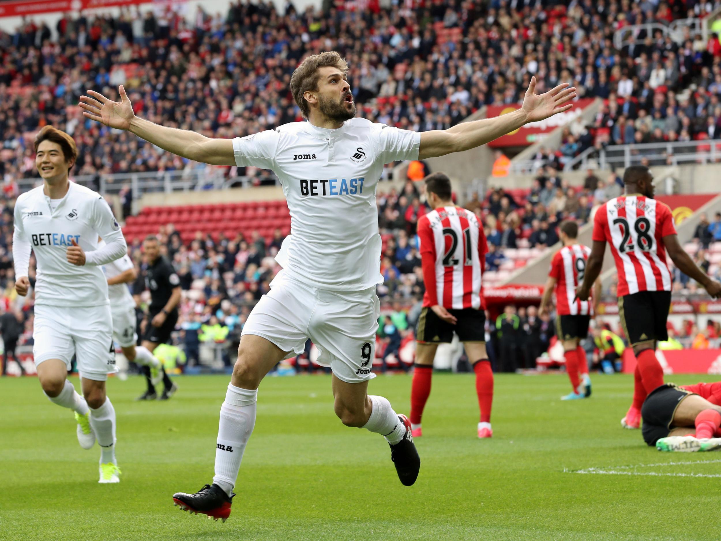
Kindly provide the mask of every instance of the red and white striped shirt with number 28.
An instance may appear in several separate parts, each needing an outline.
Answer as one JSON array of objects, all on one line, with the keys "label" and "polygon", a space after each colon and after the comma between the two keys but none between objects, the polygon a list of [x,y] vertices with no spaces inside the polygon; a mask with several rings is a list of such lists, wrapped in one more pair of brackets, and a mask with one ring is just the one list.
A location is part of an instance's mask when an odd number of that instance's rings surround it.
[{"label": "red and white striped shirt with number 28", "polygon": [[643,195],[624,195],[598,208],[593,240],[609,242],[619,275],[618,295],[671,291],[663,237],[676,234],[671,209]]}]

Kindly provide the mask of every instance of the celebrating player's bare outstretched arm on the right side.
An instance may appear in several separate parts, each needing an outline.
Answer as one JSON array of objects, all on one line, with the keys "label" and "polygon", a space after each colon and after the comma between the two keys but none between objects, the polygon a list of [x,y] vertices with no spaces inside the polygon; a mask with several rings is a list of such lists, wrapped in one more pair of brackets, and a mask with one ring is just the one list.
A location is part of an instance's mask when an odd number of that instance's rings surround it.
[{"label": "celebrating player's bare outstretched arm on the right side", "polygon": [[575,87],[567,87],[568,83],[559,84],[545,94],[535,94],[536,77],[531,77],[531,84],[528,85],[526,96],[523,97],[521,109],[508,115],[464,122],[447,130],[424,131],[420,134],[418,159],[474,149],[529,122],[537,122],[563,113],[572,107],[568,102],[576,97]]}]

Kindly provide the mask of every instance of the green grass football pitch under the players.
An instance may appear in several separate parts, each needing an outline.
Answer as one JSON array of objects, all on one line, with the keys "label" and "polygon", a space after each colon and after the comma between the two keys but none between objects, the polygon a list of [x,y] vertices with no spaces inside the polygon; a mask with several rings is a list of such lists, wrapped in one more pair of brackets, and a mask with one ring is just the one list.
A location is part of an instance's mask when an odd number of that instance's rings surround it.
[{"label": "green grass football pitch under the players", "polygon": [[[133,402],[139,377],[110,379],[119,485],[97,483],[99,447],[80,449],[72,414],[48,403],[36,379],[0,380],[0,539],[688,541],[715,528],[718,478],[569,472],[699,461],[631,471],[721,472],[707,462],[720,454],[662,454],[621,428],[626,375],[594,375],[593,397],[572,402],[559,400],[563,374],[497,375],[494,437],[479,440],[473,377],[435,374],[411,488],[381,436],[335,418],[329,377],[267,378],[229,521],[189,515],[171,495],[212,478],[228,379],[177,377],[165,403]],[[407,413],[410,377],[378,377],[370,390]]]}]

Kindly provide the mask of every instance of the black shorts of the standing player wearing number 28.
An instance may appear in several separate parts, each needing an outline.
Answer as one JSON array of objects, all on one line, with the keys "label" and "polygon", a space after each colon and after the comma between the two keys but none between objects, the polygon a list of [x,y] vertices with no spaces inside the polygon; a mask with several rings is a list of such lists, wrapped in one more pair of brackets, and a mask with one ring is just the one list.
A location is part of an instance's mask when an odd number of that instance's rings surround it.
[{"label": "black shorts of the standing player wearing number 28", "polygon": [[629,343],[668,340],[670,309],[671,291],[639,291],[619,297],[619,317]]}]

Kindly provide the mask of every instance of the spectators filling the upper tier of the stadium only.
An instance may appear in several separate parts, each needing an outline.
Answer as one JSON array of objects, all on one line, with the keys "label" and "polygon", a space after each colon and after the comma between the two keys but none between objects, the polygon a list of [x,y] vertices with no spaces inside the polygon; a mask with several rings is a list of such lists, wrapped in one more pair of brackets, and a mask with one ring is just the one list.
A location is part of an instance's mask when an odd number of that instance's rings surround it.
[{"label": "spectators filling the upper tier of the stadium only", "polygon": [[[144,15],[123,9],[116,18],[66,15],[55,32],[29,20],[12,35],[0,33],[0,167],[32,177],[30,134],[50,123],[76,139],[79,175],[202,169],[90,123],[76,107],[79,96],[95,88],[112,97],[124,84],[136,113],[156,123],[243,136],[299,120],[291,73],[306,53],[334,49],[349,60],[359,114],[416,131],[518,102],[532,75],[539,92],[570,82],[581,97],[608,100],[596,141],[568,133],[563,159],[604,141],[720,131],[719,43],[689,35],[679,46],[654,35],[615,50],[611,42],[626,25],[703,17],[718,1],[356,4],[298,12],[288,1],[278,12],[272,3],[239,1],[227,14],[198,7],[187,18],[167,7]],[[696,92],[677,99],[691,82]]]}]

